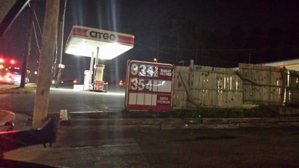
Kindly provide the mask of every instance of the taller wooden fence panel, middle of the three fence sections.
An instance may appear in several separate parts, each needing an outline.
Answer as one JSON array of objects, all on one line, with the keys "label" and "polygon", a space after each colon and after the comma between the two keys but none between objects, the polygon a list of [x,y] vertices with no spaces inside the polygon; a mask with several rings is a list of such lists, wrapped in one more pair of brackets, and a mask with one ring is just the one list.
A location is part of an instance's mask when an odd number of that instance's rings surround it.
[{"label": "taller wooden fence panel, middle of the three fence sections", "polygon": [[282,68],[240,63],[239,71],[244,75],[244,104],[283,104],[286,79]]}]

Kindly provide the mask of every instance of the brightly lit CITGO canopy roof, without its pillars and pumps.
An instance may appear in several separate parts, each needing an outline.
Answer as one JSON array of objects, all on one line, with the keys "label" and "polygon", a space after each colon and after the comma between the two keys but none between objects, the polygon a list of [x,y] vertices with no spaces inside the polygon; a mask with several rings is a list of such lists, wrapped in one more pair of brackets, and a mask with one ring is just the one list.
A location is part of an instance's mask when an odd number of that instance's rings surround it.
[{"label": "brightly lit CITGO canopy roof, without its pillars and pumps", "polygon": [[113,59],[134,47],[134,35],[74,25],[65,53],[91,57],[97,47],[100,59]]}]

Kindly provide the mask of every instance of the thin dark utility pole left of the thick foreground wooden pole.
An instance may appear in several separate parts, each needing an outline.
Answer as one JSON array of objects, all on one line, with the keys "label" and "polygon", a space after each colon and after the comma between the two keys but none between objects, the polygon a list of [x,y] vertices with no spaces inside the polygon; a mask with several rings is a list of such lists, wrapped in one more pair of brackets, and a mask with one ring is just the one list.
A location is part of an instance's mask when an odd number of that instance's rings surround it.
[{"label": "thin dark utility pole left of the thick foreground wooden pole", "polygon": [[27,74],[27,62],[28,62],[28,58],[30,55],[30,51],[31,51],[31,36],[32,36],[32,21],[33,21],[33,14],[34,14],[34,0],[31,1],[31,6],[29,8],[30,10],[30,15],[29,15],[29,28],[28,31],[26,33],[27,35],[27,42],[26,42],[26,48],[25,48],[25,52],[24,52],[24,57],[23,57],[23,65],[22,65],[22,73],[21,73],[21,82],[20,82],[20,87],[24,88],[25,87],[25,79],[26,79],[26,74]]}]

